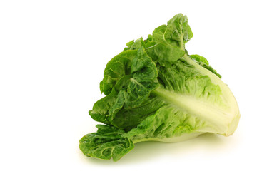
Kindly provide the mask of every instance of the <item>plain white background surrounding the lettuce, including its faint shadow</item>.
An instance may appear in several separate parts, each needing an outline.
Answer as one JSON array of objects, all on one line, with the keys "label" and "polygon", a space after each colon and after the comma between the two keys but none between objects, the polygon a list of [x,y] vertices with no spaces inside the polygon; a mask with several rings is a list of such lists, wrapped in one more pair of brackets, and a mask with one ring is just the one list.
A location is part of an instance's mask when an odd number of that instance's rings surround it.
[{"label": "plain white background surrounding the lettuce, including its faint shadow", "polygon": [[[128,41],[183,13],[188,53],[205,56],[241,110],[228,138],[141,142],[118,162],[85,157],[79,139],[103,97],[106,63]],[[254,1],[0,1],[0,170],[256,170]]]}]

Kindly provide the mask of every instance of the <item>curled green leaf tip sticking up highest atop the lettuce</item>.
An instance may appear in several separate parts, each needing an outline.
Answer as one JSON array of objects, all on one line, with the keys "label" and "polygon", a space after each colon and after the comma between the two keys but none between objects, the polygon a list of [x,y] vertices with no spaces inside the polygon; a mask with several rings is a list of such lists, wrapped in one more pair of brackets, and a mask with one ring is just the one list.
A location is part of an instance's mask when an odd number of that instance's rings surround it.
[{"label": "curled green leaf tip sticking up highest atop the lettuce", "polygon": [[184,44],[193,37],[186,16],[178,14],[174,16],[168,25],[162,25],[153,31],[152,40],[156,46],[149,48],[148,55],[158,58],[161,66],[170,66],[171,62],[177,61],[185,54]]}]

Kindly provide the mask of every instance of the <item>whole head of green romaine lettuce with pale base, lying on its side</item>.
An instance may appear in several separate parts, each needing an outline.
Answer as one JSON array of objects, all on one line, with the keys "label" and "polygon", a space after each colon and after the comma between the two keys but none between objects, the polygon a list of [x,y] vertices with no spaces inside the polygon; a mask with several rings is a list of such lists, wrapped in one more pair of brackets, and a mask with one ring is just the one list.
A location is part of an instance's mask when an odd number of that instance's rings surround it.
[{"label": "whole head of green romaine lettuce with pale base, lying on its side", "polygon": [[177,14],[107,63],[100,83],[106,96],[89,111],[104,125],[81,138],[84,155],[116,161],[136,142],[233,134],[240,118],[236,99],[206,58],[188,55],[192,37],[187,17]]}]

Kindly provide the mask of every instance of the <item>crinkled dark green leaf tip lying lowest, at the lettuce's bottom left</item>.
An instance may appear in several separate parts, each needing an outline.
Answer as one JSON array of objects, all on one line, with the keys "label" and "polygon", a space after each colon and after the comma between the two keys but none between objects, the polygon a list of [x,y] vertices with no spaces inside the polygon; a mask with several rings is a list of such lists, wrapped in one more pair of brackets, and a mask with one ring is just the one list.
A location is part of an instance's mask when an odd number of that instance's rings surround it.
[{"label": "crinkled dark green leaf tip lying lowest, at the lettuce's bottom left", "polygon": [[79,148],[88,157],[114,161],[119,160],[133,149],[131,140],[124,138],[124,130],[109,125],[96,125],[97,133],[85,135],[79,141]]}]

